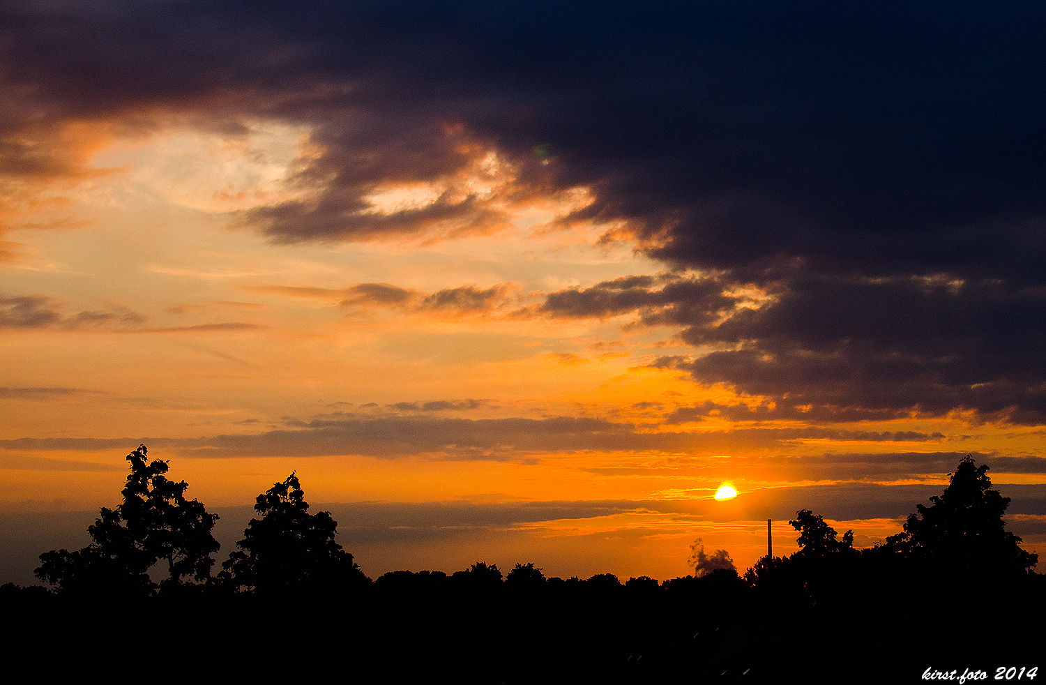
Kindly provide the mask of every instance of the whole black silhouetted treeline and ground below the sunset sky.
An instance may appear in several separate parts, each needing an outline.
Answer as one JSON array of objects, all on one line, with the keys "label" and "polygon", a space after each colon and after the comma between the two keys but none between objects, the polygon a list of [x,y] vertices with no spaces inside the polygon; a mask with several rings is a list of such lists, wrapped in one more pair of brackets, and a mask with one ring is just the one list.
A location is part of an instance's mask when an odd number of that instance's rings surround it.
[{"label": "whole black silhouetted treeline and ground below the sunset sky", "polygon": [[907,682],[927,667],[1033,666],[1041,650],[1038,557],[1005,530],[1009,499],[970,457],[872,548],[802,509],[791,556],[662,583],[483,562],[371,580],[335,542],[331,515],[309,512],[294,474],[258,496],[214,573],[217,517],[144,446],[128,460],[123,502],[100,510],[92,542],[41,554],[50,588],[0,588],[26,629],[20,654],[60,643],[97,659],[92,640],[108,635],[131,645],[121,663],[150,663],[149,643],[215,675],[300,677],[339,661],[376,682],[661,683]]}]

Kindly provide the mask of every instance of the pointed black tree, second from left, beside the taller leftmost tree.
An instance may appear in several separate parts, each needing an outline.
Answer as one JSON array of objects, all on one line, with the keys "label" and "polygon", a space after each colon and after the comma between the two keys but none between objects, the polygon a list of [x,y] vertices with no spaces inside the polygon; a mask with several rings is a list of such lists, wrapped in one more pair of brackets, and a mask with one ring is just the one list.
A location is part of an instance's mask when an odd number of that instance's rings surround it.
[{"label": "pointed black tree, second from left, beside the taller leftmost tree", "polygon": [[335,542],[338,522],[329,511],[309,513],[292,473],[258,495],[240,549],[229,554],[220,577],[256,593],[331,591],[367,581],[353,555]]}]

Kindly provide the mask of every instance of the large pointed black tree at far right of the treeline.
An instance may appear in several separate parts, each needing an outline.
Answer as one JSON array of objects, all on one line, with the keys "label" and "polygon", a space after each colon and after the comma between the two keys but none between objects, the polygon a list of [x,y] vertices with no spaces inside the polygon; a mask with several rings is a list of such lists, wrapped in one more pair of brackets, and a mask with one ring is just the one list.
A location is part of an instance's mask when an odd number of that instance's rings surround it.
[{"label": "large pointed black tree at far right of the treeline", "polygon": [[949,485],[930,506],[916,505],[904,530],[885,547],[912,558],[954,571],[1025,573],[1039,555],[1021,549],[1021,539],[1005,530],[1002,520],[1009,498],[992,489],[988,466],[972,456],[949,474]]}]

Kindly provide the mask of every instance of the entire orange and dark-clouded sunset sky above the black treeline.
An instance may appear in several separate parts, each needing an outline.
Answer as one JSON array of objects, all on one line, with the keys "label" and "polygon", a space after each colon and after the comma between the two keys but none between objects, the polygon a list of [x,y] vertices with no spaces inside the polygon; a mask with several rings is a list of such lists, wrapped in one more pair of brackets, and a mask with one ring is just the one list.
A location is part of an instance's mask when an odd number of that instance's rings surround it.
[{"label": "entire orange and dark-clouded sunset sky above the black treeline", "polygon": [[5,0],[0,583],[139,442],[220,558],[294,471],[371,577],[867,547],[967,454],[1046,553],[1044,22]]}]

